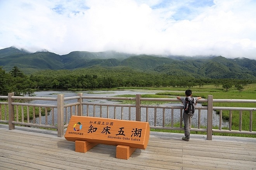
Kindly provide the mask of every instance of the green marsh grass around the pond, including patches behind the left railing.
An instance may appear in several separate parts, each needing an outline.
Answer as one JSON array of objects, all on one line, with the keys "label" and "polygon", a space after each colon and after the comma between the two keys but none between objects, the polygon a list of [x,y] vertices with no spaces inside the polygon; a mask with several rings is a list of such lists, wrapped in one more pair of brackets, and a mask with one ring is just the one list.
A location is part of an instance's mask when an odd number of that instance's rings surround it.
[{"label": "green marsh grass around the pond, including patches behind the left railing", "polygon": [[[235,87],[232,87],[228,89],[228,92],[225,91],[220,85],[219,87],[216,88],[215,85],[204,85],[204,86],[194,86],[190,88],[192,90],[193,96],[194,97],[202,97],[204,99],[208,98],[208,95],[213,95],[213,99],[256,99],[256,84],[249,84],[244,87],[244,90],[242,92],[239,92]],[[142,97],[146,98],[174,98],[176,96],[184,96],[185,95],[185,90],[187,88],[178,88],[178,87],[134,87],[134,88],[111,88],[108,90],[163,90],[166,92],[160,92],[156,94],[143,94],[141,95]],[[93,92],[92,92],[93,93]],[[108,93],[108,92],[106,92]],[[117,97],[135,97],[135,95],[117,95]],[[135,104],[135,101],[133,100],[118,100],[118,102],[124,103],[124,104]],[[159,101],[142,101],[142,104],[147,104],[147,105],[161,105],[161,104],[166,104],[169,102],[159,102]],[[207,103],[203,103],[202,105],[207,105]],[[214,103],[214,106],[219,106],[219,107],[256,107],[256,104],[254,103]],[[2,120],[5,119],[4,115],[4,105],[2,105]],[[21,113],[21,106],[18,107],[19,113]],[[50,108],[49,110],[50,111]],[[16,107],[14,110],[14,113],[16,115]],[[35,113],[36,116],[39,115],[39,109],[38,107],[35,107]],[[42,116],[45,115],[45,110],[42,108],[41,110]],[[223,110],[222,111],[222,116],[223,120],[229,120],[229,111],[228,110]],[[15,116],[16,117],[16,116]],[[30,120],[33,119],[33,107],[29,107],[29,118]],[[8,105],[7,105],[7,120],[8,120]],[[24,122],[27,120],[27,107],[24,107]],[[19,114],[19,121],[21,121],[21,114]],[[166,125],[170,126],[170,125]],[[175,123],[175,127],[180,127],[179,123]],[[193,126],[192,126],[193,128]],[[206,127],[201,127],[201,128],[206,128]],[[214,129],[218,129],[218,127],[214,127]],[[228,128],[222,128],[222,129],[228,129]],[[232,111],[232,129],[233,130],[238,130],[239,129],[239,111]],[[248,131],[249,129],[249,112],[243,111],[242,112],[242,130]],[[174,130],[166,130],[166,129],[150,129],[150,131],[160,131],[160,132],[171,132],[171,133],[184,133],[184,131],[174,131]],[[253,112],[253,131],[256,131],[256,113],[255,111]],[[191,134],[206,134],[205,132],[195,132],[191,131]],[[253,137],[256,138],[256,135],[246,135],[246,134],[231,134],[231,133],[213,133],[213,135],[221,135],[221,136],[242,136],[242,137]]]}]

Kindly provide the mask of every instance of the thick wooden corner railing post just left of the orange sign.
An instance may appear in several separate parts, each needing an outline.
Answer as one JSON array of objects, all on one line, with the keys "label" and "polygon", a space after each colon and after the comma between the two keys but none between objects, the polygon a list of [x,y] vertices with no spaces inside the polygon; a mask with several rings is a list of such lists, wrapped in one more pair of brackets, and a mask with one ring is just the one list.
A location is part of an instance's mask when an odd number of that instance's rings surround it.
[{"label": "thick wooden corner railing post just left of the orange sign", "polygon": [[[54,118],[53,118],[54,119]],[[64,136],[64,95],[57,95],[57,131],[58,137]]]}]

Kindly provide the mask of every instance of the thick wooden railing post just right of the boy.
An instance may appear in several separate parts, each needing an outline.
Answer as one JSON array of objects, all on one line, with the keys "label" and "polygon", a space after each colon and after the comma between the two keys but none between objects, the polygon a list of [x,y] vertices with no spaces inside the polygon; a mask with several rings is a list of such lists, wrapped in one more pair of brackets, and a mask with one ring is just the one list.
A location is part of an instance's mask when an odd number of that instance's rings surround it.
[{"label": "thick wooden railing post just right of the boy", "polygon": [[208,95],[207,110],[207,140],[212,140],[213,136],[213,95]]}]

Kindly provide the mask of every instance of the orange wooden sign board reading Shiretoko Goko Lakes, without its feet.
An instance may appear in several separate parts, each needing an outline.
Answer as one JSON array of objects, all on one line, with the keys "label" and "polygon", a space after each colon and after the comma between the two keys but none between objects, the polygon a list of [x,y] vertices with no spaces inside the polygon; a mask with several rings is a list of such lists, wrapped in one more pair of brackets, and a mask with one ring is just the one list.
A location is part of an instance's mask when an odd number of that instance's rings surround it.
[{"label": "orange wooden sign board reading Shiretoko Goko Lakes, without its feet", "polygon": [[65,138],[106,145],[145,149],[149,142],[149,123],[101,117],[71,116]]}]

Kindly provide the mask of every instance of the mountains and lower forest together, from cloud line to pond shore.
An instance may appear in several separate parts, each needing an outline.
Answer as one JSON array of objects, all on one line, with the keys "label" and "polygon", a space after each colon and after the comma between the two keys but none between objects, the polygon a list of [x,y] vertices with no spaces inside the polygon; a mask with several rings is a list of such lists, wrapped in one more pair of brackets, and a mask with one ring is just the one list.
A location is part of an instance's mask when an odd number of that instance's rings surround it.
[{"label": "mountains and lower forest together, from cloud line to pond shore", "polygon": [[115,51],[59,55],[0,49],[0,95],[30,96],[37,90],[138,87],[235,87],[256,82],[256,61],[223,56],[154,56]]}]

